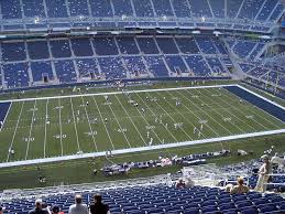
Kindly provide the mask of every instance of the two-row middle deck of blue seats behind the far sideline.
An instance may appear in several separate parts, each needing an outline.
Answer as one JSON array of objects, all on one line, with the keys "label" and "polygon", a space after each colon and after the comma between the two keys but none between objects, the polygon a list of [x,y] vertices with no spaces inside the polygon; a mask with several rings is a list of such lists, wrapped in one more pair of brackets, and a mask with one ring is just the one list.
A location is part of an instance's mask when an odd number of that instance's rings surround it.
[{"label": "two-row middle deck of blue seats behind the far sideline", "polygon": [[229,76],[221,61],[228,55],[223,44],[205,36],[9,41],[2,42],[1,51],[8,88],[127,77]]}]

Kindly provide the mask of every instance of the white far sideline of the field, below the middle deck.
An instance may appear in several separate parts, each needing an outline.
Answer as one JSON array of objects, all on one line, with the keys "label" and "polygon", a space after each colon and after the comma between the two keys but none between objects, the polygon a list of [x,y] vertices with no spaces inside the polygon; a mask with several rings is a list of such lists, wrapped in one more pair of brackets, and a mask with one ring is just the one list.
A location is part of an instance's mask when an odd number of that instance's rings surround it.
[{"label": "white far sideline of the field, below the middle deck", "polygon": [[[238,84],[229,84],[229,85],[209,85],[209,86],[191,86],[191,87],[176,87],[176,88],[158,88],[158,89],[141,89],[141,90],[127,90],[128,93],[151,93],[151,92],[164,92],[164,90],[184,90],[191,88],[218,88],[226,86],[239,86]],[[125,93],[125,92],[124,92]],[[84,95],[65,95],[65,96],[54,96],[54,97],[34,97],[34,98],[24,98],[24,99],[10,99],[10,100],[0,100],[0,103],[7,101],[33,101],[41,99],[56,99],[56,98],[69,98],[69,97],[90,97],[90,96],[102,96],[102,95],[120,95],[123,92],[112,92],[112,93],[95,93],[95,94],[84,94]]]}]

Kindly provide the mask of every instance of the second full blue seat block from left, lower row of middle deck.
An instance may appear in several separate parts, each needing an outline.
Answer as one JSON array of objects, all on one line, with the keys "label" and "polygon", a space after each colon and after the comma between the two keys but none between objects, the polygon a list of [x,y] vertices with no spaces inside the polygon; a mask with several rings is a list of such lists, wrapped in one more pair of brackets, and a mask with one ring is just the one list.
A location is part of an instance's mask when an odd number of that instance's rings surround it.
[{"label": "second full blue seat block from left, lower row of middle deck", "polygon": [[50,81],[54,79],[53,69],[50,61],[46,62],[31,62],[31,71],[34,82],[41,82],[44,77]]}]

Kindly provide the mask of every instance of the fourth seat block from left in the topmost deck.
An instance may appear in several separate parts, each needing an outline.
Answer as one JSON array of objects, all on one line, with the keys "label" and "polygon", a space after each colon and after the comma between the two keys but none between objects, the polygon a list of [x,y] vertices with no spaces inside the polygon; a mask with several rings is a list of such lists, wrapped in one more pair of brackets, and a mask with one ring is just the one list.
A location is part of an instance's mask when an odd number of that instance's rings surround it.
[{"label": "fourth seat block from left in the topmost deck", "polygon": [[68,0],[68,9],[72,17],[89,15],[87,0]]}]

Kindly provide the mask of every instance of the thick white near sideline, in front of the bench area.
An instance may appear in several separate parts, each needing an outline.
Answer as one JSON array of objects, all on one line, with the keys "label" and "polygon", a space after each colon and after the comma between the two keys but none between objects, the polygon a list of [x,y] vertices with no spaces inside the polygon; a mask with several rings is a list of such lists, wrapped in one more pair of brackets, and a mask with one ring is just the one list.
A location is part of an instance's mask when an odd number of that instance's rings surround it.
[{"label": "thick white near sideline, in front of the bench area", "polygon": [[[166,145],[154,145],[151,147],[120,149],[120,150],[112,151],[112,154],[124,154],[124,153],[143,152],[143,151],[157,150],[157,149],[161,150],[161,149],[201,145],[201,143],[222,142],[222,141],[229,141],[229,140],[264,137],[264,136],[278,135],[278,133],[285,133],[285,129],[235,135],[235,136],[228,136],[228,137],[221,137],[221,138],[201,139],[201,140],[195,140],[195,141],[174,142],[174,143],[166,143]],[[34,160],[28,160],[28,161],[3,162],[3,163],[0,163],[0,168],[48,163],[48,162],[57,162],[57,161],[66,161],[66,160],[77,160],[77,159],[96,158],[96,157],[105,157],[105,156],[106,156],[106,152],[102,151],[102,152],[72,154],[72,156],[55,157],[55,158],[34,159]]]}]

